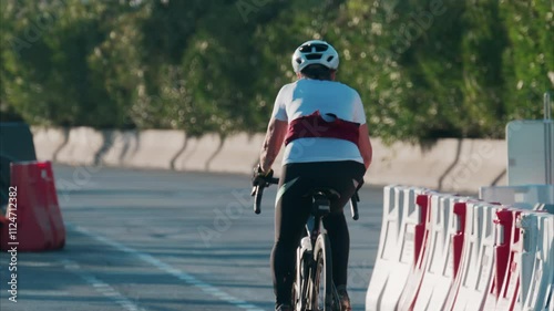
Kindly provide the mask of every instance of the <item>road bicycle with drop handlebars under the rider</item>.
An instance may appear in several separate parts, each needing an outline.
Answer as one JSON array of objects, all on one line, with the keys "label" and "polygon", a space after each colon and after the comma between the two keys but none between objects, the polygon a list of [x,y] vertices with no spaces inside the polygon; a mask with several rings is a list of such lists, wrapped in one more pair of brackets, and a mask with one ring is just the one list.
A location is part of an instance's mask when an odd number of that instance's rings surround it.
[{"label": "road bicycle with drop handlebars under the rider", "polygon": [[[268,178],[261,185],[253,187],[255,214],[260,212],[264,188],[278,183],[278,178]],[[331,188],[314,188],[307,195],[311,197],[311,211],[306,222],[305,237],[297,248],[296,280],[290,305],[295,311],[341,311],[339,294],[332,281],[329,237],[320,230],[322,218],[330,212],[331,200],[340,198],[340,195]],[[359,218],[359,200],[356,191],[350,199],[353,220]]]}]

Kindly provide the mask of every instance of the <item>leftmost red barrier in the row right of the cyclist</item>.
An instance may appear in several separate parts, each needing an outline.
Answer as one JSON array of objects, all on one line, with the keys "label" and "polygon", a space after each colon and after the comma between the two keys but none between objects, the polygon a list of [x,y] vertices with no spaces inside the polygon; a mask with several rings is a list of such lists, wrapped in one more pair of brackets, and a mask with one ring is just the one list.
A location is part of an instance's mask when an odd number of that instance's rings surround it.
[{"label": "leftmost red barrier in the row right of the cyclist", "polygon": [[398,310],[411,311],[416,304],[418,292],[423,279],[423,273],[428,260],[429,235],[432,226],[429,205],[431,204],[431,195],[419,195],[416,203],[420,209],[419,224],[416,225],[414,231],[414,258],[413,266],[410,269],[410,274],[406,283],[402,294],[398,302]]}]

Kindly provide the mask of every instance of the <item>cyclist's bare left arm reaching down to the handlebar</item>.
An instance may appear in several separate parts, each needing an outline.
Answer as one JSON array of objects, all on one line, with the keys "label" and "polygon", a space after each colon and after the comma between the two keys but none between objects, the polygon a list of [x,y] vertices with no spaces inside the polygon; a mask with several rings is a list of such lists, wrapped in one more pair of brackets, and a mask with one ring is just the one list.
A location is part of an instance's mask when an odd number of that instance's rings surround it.
[{"label": "cyclist's bare left arm reaching down to the handlebar", "polygon": [[271,117],[271,120],[269,120],[269,124],[267,125],[266,138],[264,141],[264,145],[261,146],[261,152],[259,155],[259,165],[263,172],[268,172],[269,169],[271,169],[271,165],[279,154],[283,141],[285,141],[287,128],[287,121],[280,121],[275,117]]}]

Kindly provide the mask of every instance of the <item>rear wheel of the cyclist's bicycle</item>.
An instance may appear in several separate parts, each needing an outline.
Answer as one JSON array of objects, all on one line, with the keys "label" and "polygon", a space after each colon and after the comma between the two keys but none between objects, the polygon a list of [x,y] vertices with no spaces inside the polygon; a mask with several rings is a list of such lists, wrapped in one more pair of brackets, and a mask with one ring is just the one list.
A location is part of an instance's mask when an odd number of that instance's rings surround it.
[{"label": "rear wheel of the cyclist's bicycle", "polygon": [[335,311],[331,245],[326,234],[319,235],[314,248],[315,274],[312,274],[311,309]]}]

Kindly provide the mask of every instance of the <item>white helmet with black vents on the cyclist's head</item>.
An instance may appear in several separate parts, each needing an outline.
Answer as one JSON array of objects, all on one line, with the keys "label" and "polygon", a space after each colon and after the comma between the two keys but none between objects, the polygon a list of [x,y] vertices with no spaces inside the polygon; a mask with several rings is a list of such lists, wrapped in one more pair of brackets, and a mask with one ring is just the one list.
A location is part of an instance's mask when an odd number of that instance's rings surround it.
[{"label": "white helmet with black vents on the cyclist's head", "polygon": [[331,44],[321,40],[304,42],[293,54],[293,68],[298,73],[311,64],[337,70],[339,68],[339,53]]}]

